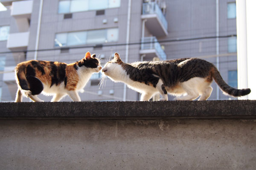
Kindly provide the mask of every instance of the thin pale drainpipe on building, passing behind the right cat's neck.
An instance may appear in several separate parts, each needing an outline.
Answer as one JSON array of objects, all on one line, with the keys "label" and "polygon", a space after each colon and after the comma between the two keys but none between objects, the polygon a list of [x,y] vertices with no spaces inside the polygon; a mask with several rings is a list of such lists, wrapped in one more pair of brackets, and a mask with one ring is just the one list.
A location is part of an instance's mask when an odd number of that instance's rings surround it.
[{"label": "thin pale drainpipe on building, passing behind the right cat's neck", "polygon": [[[127,15],[127,31],[126,31],[126,47],[125,47],[125,62],[128,63],[129,54],[129,37],[130,37],[130,23],[131,23],[131,0],[128,1],[128,15]],[[123,101],[126,101],[127,86],[124,84]]]}]

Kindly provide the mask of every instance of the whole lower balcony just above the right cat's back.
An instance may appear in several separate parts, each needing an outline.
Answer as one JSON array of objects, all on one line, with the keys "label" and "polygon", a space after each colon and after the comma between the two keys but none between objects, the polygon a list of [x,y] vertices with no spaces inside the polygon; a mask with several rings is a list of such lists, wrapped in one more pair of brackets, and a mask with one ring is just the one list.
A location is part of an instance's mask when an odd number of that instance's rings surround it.
[{"label": "whole lower balcony just above the right cat's back", "polygon": [[144,59],[152,60],[158,57],[161,60],[166,60],[166,53],[161,48],[156,37],[143,37],[141,40],[140,54],[145,54]]}]

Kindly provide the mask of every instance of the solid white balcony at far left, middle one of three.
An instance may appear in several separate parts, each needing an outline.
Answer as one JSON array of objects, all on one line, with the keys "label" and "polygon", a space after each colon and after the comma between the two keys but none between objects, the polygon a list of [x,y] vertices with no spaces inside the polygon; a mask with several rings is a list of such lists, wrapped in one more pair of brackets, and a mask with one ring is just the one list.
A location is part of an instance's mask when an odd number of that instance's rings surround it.
[{"label": "solid white balcony at far left, middle one of three", "polygon": [[11,50],[26,50],[29,44],[29,32],[9,34],[7,48]]}]

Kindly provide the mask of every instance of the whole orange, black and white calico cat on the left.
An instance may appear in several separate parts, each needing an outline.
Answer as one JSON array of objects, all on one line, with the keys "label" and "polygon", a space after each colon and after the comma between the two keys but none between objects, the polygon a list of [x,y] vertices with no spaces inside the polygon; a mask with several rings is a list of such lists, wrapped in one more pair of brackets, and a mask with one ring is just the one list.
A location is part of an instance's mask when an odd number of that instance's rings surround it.
[{"label": "whole orange, black and white calico cat on the left", "polygon": [[54,95],[51,102],[58,102],[69,95],[73,101],[80,102],[78,91],[82,90],[91,75],[101,70],[99,59],[90,52],[80,61],[66,64],[30,60],[19,63],[15,68],[18,85],[15,102],[22,102],[22,95],[34,102],[43,102],[38,94]]}]

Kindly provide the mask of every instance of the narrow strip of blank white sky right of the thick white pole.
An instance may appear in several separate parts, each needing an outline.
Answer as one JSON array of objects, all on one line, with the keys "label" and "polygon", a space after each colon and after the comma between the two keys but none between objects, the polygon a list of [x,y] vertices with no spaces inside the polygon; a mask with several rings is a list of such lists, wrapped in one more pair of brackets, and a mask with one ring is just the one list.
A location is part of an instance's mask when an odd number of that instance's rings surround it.
[{"label": "narrow strip of blank white sky right of the thick white pole", "polygon": [[251,89],[248,99],[256,99],[256,78],[255,78],[255,63],[256,63],[256,0],[246,0],[246,22],[247,22],[247,73],[248,73],[248,88]]}]

